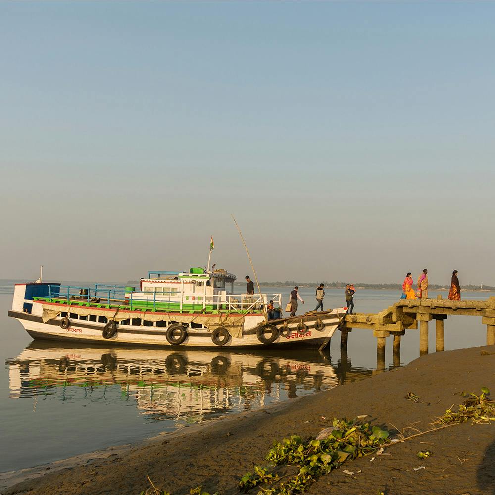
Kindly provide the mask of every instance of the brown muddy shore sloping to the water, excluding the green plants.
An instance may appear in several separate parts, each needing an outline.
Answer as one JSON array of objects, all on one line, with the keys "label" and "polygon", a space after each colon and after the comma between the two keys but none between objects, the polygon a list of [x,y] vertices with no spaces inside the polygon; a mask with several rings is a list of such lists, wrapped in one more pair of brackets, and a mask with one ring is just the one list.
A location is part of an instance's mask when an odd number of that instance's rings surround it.
[{"label": "brown muddy shore sloping to the water, excluding the green plants", "polygon": [[[197,485],[209,492],[238,494],[239,478],[253,465],[264,464],[274,440],[315,435],[334,416],[361,414],[390,430],[427,430],[435,417],[462,401],[459,392],[478,393],[482,386],[495,396],[495,346],[430,354],[330,391],[191,426],[137,446],[55,463],[43,468],[42,476],[12,485],[24,477],[17,473],[2,493],[138,495],[149,488],[149,475],[156,486],[175,495],[188,494]],[[407,392],[430,405],[407,400]],[[433,455],[418,459],[416,452],[425,449]],[[414,470],[421,466],[424,469]],[[336,470],[306,493],[494,495],[495,424],[456,425],[390,446],[372,462],[364,457],[344,468],[355,474]]]}]

